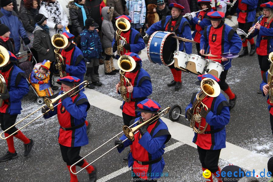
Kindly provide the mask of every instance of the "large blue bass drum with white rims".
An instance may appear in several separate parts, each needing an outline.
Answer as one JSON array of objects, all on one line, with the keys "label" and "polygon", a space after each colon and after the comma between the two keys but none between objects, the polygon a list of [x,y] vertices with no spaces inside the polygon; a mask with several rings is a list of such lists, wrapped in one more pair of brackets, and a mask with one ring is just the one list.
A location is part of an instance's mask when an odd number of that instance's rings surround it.
[{"label": "large blue bass drum with white rims", "polygon": [[174,52],[178,51],[178,40],[175,33],[154,32],[148,41],[147,54],[151,63],[170,66],[174,63]]}]

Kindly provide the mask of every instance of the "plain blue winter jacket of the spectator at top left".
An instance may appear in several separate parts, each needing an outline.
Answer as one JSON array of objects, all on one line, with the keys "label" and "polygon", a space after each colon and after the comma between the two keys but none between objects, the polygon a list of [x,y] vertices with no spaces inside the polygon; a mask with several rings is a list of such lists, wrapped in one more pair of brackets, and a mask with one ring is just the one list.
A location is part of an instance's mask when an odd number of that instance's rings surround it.
[{"label": "plain blue winter jacket of the spectator at top left", "polygon": [[7,11],[4,8],[0,10],[0,22],[8,26],[10,30],[10,38],[14,40],[15,54],[17,54],[21,47],[21,39],[28,37],[25,32],[22,22],[17,17],[14,11]]}]

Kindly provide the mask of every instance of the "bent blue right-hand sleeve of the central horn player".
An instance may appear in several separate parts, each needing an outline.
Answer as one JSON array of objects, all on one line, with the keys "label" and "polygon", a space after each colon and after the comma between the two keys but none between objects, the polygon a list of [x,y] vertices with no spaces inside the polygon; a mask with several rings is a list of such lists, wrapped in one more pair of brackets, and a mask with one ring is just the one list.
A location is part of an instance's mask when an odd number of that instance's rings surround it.
[{"label": "bent blue right-hand sleeve of the central horn player", "polygon": [[147,97],[153,92],[151,80],[145,79],[140,87],[133,88],[133,98]]}]

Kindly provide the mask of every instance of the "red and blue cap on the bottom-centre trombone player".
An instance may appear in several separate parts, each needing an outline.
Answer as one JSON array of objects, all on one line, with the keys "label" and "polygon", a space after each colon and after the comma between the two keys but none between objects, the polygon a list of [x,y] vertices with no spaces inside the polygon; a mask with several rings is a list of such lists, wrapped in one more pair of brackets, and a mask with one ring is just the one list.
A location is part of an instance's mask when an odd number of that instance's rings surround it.
[{"label": "red and blue cap on the bottom-centre trombone player", "polygon": [[153,114],[157,114],[157,111],[159,111],[161,108],[160,104],[152,99],[145,99],[141,101],[139,104],[137,104],[137,107],[139,109],[136,109],[136,111]]}]

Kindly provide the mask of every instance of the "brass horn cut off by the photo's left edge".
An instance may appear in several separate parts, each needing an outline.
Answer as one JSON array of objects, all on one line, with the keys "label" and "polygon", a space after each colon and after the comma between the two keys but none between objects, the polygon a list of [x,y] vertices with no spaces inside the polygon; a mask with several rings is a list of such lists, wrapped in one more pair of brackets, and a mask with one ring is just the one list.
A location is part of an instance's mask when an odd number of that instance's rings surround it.
[{"label": "brass horn cut off by the photo's left edge", "polygon": [[[8,61],[9,61],[8,50],[2,45],[0,45],[0,67],[3,67],[6,64],[8,64]],[[0,74],[0,95],[2,93],[5,94],[6,92],[7,92],[7,84],[6,84],[4,76]],[[0,106],[2,106],[3,102],[4,100],[0,99]]]}]

